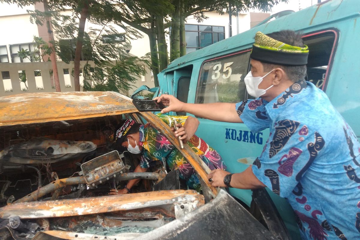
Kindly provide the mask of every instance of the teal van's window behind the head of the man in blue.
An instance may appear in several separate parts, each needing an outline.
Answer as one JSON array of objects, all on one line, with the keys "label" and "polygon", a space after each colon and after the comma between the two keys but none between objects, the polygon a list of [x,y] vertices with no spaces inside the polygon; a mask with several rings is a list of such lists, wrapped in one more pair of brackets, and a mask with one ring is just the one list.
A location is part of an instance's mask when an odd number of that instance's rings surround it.
[{"label": "teal van's window behind the head of the man in blue", "polygon": [[[309,47],[306,81],[325,91],[325,77],[332,59],[336,35],[334,31],[305,35],[304,44]],[[334,55],[334,54],[333,54]]]}]

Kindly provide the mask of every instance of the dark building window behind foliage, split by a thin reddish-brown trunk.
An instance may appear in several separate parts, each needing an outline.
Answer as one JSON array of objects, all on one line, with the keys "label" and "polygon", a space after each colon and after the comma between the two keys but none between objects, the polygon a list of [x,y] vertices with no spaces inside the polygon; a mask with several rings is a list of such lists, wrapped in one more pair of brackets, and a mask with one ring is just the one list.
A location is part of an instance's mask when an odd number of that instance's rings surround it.
[{"label": "dark building window behind foliage, split by a thin reddish-brown trunk", "polygon": [[[60,52],[58,53],[58,55],[61,60],[66,63],[75,60],[76,39],[60,40],[59,49]],[[83,46],[81,49],[80,61],[86,61],[91,59],[91,43],[88,39],[84,38]]]}]

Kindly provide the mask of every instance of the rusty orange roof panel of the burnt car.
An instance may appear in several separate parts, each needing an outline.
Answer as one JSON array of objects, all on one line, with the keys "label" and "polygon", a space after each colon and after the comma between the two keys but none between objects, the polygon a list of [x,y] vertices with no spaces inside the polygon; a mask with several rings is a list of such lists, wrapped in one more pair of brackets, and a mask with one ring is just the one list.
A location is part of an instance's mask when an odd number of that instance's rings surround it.
[{"label": "rusty orange roof panel of the burnt car", "polygon": [[138,112],[114,92],[39,92],[0,98],[0,126]]}]

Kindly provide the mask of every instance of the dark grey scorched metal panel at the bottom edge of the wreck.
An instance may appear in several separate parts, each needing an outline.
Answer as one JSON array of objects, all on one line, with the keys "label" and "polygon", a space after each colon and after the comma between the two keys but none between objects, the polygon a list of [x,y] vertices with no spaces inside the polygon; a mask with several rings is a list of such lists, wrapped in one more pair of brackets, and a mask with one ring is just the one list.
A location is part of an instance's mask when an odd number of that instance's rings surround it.
[{"label": "dark grey scorched metal panel at the bottom edge of the wreck", "polygon": [[278,238],[221,189],[210,203],[134,240],[143,239],[275,240]]}]

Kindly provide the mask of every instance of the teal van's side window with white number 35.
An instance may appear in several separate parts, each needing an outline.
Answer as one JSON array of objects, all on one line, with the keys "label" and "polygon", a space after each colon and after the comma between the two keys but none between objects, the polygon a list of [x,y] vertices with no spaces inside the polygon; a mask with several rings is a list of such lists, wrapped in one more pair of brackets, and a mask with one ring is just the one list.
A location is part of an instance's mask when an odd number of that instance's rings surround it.
[{"label": "teal van's side window with white number 35", "polygon": [[246,50],[203,63],[195,103],[243,101],[249,59],[250,50]]}]

